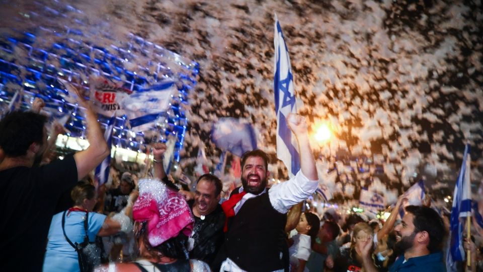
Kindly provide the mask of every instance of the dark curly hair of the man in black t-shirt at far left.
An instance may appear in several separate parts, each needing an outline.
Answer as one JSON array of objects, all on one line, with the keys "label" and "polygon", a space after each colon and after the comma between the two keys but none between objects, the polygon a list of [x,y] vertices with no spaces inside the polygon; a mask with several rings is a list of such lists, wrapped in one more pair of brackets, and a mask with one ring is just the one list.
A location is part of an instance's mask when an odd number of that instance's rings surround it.
[{"label": "dark curly hair of the man in black t-shirt at far left", "polygon": [[31,111],[14,111],[0,120],[0,147],[5,155],[24,156],[30,145],[41,144],[46,121],[47,117]]}]

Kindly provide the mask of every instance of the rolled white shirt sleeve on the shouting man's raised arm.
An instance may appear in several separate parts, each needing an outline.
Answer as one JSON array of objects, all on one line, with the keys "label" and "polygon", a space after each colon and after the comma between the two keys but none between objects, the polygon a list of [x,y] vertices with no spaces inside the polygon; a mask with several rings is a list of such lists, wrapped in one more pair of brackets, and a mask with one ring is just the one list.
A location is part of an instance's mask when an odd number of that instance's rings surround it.
[{"label": "rolled white shirt sleeve on the shouting man's raised arm", "polygon": [[318,180],[309,180],[299,170],[291,179],[270,188],[268,191],[270,203],[279,213],[285,214],[290,207],[312,195],[317,186]]}]

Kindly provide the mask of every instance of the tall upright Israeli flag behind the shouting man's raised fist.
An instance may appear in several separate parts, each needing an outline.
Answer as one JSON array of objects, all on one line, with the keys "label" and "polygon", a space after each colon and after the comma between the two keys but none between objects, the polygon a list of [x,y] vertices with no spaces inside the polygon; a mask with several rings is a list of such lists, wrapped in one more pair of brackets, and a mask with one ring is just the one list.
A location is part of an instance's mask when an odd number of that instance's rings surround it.
[{"label": "tall upright Israeli flag behind the shouting man's raised fist", "polygon": [[275,76],[273,87],[275,93],[275,112],[277,113],[277,158],[287,167],[290,176],[300,170],[298,145],[292,131],[287,126],[287,115],[297,112],[293,75],[287,45],[282,28],[275,15]]}]

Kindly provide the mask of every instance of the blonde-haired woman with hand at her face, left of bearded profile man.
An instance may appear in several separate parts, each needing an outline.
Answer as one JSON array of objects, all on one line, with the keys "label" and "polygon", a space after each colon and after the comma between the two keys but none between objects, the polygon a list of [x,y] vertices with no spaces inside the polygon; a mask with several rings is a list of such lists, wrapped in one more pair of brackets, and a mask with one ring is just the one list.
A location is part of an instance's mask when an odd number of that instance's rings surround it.
[{"label": "blonde-haired woman with hand at her face, left of bearded profile man", "polygon": [[369,224],[357,223],[354,226],[351,246],[334,260],[334,271],[377,271],[372,258],[372,235],[373,230]]}]

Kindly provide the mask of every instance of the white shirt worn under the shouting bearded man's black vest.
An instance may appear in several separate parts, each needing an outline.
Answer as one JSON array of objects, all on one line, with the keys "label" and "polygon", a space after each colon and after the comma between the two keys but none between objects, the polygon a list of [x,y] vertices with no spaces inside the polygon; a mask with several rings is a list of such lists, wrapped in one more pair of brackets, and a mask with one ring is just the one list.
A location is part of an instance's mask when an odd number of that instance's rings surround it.
[{"label": "white shirt worn under the shouting bearded man's black vest", "polygon": [[[318,181],[317,180],[309,180],[302,171],[298,171],[295,176],[290,178],[289,180],[273,185],[270,190],[268,191],[270,203],[272,207],[278,211],[279,213],[285,214],[288,210],[294,206],[295,204],[299,203],[302,200],[307,199],[312,193],[317,189]],[[243,187],[240,187],[239,192],[243,191]],[[241,200],[236,203],[235,207],[233,208],[235,214],[241,209],[244,203],[255,196],[261,195],[266,193],[267,189],[264,189],[259,194],[247,193],[241,198]],[[231,271],[231,272],[245,272],[245,270],[241,269],[235,262],[233,262],[230,258],[226,258],[225,261],[221,264],[220,271]],[[284,269],[276,270],[274,272],[283,272]]]}]

